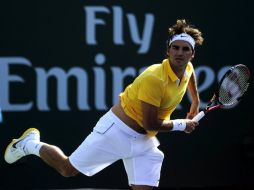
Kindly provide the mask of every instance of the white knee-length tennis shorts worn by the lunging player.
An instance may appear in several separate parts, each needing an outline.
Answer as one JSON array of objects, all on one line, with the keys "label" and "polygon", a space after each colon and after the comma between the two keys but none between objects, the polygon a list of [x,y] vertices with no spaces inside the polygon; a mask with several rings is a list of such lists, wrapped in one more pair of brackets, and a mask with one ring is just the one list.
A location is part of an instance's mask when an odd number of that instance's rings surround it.
[{"label": "white knee-length tennis shorts worn by the lunging player", "polygon": [[122,159],[130,185],[157,187],[164,158],[158,146],[156,137],[137,133],[110,110],[69,160],[78,171],[92,176]]}]

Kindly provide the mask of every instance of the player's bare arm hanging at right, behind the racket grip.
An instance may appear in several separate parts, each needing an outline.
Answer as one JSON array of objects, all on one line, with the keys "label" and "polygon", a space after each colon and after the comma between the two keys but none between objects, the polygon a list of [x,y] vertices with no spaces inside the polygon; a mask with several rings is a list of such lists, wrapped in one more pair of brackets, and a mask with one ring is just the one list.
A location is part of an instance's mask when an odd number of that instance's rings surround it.
[{"label": "player's bare arm hanging at right, behind the racket grip", "polygon": [[199,113],[199,104],[200,104],[199,93],[197,88],[197,79],[194,71],[192,72],[191,78],[188,83],[188,91],[191,95],[191,106],[189,112],[187,113],[186,118],[192,119],[195,115]]}]

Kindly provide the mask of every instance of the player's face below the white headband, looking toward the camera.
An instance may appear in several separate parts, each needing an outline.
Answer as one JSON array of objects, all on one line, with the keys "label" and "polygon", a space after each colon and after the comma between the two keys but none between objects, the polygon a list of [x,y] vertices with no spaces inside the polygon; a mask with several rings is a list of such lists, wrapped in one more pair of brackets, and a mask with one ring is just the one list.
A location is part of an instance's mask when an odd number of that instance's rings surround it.
[{"label": "player's face below the white headband, looking toward the camera", "polygon": [[168,49],[168,57],[173,66],[185,68],[187,63],[194,57],[194,51],[188,42],[176,40]]}]

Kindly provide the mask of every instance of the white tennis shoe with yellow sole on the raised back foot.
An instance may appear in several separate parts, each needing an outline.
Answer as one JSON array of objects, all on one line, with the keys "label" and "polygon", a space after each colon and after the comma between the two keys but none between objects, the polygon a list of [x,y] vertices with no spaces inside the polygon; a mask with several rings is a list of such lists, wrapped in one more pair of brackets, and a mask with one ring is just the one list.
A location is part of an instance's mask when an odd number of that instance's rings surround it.
[{"label": "white tennis shoe with yellow sole on the raised back foot", "polygon": [[12,164],[23,156],[28,155],[26,143],[30,140],[40,141],[40,131],[38,129],[29,128],[18,139],[12,139],[4,153],[5,161]]}]

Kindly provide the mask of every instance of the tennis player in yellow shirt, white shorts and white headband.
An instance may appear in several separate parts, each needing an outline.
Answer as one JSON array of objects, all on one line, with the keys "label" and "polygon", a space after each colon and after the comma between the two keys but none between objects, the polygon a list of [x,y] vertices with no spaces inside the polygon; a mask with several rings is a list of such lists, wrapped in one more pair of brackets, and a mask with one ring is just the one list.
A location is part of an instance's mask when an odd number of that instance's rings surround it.
[{"label": "tennis player in yellow shirt, white shorts and white headband", "polygon": [[[184,19],[169,28],[167,58],[141,73],[119,95],[115,104],[97,122],[93,131],[68,157],[61,149],[40,141],[35,128],[13,139],[5,151],[9,164],[26,155],[39,156],[65,177],[81,172],[92,176],[122,159],[133,190],[151,190],[159,185],[164,154],[158,149],[158,132],[191,133],[191,121],[199,111],[199,95],[191,60],[195,46],[202,45],[199,29]],[[192,97],[186,119],[170,119],[186,90]]]}]

